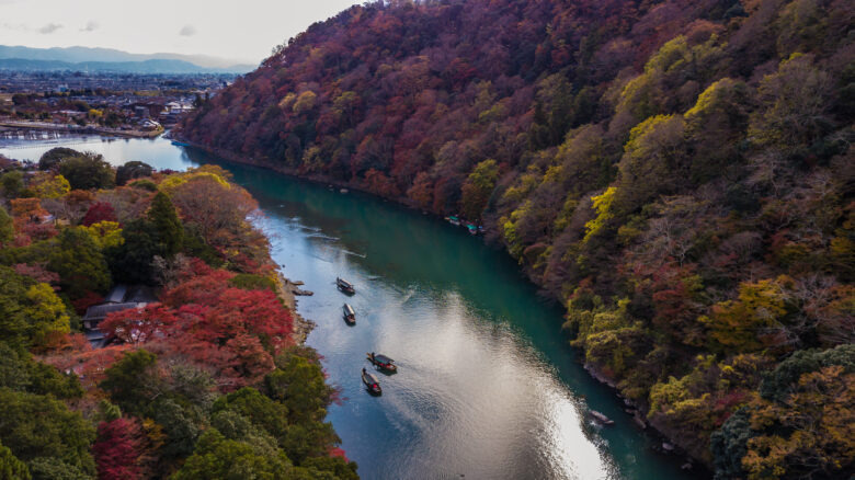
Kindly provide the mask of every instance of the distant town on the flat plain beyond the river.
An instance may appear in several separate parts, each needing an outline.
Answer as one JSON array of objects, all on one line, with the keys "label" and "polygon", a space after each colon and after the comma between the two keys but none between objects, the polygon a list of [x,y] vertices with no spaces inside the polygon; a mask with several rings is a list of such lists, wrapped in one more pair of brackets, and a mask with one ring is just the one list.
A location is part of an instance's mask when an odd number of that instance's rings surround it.
[{"label": "distant town on the flat plain beyond the river", "polygon": [[232,73],[0,71],[0,136],[47,129],[152,137],[235,78]]}]

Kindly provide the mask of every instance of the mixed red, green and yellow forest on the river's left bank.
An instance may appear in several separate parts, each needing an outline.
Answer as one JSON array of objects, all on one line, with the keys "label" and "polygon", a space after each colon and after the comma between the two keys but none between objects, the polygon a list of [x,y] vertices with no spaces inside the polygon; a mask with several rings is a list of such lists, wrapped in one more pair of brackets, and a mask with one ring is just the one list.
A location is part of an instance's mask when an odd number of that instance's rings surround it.
[{"label": "mixed red, green and yellow forest on the river's left bank", "polygon": [[358,478],[227,171],[0,160],[0,479]]}]

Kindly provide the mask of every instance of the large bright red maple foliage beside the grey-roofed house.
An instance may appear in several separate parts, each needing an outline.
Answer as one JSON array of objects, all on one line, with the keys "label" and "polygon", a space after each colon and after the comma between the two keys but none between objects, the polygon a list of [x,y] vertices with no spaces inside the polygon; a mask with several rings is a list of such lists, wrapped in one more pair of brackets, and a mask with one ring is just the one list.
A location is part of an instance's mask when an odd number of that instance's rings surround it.
[{"label": "large bright red maple foliage beside the grey-roofed house", "polygon": [[233,275],[192,262],[163,304],[111,313],[101,329],[122,343],[155,342],[156,350],[204,365],[224,389],[252,384],[292,344],[293,318],[273,292],[230,286]]}]

